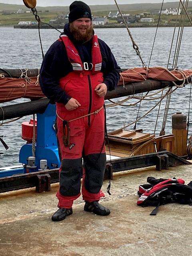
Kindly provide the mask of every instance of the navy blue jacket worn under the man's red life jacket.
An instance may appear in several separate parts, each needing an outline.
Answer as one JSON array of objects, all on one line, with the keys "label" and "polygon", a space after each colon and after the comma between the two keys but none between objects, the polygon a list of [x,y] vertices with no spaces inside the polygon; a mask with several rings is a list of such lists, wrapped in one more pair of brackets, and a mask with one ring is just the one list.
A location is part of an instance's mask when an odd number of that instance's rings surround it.
[{"label": "navy blue jacket worn under the man's red life jacket", "polygon": [[[64,33],[70,38],[74,46],[78,50],[82,62],[92,62],[92,40],[84,43],[74,40],[70,33],[69,23],[64,27]],[[100,51],[102,55],[102,68],[101,72],[104,76],[104,83],[109,91],[115,89],[120,79],[120,67],[117,65],[116,60],[107,46],[107,44],[98,39]],[[70,99],[64,90],[59,86],[60,78],[72,72],[72,65],[70,64],[64,44],[57,40],[50,46],[46,55],[44,56],[42,66],[40,69],[40,86],[44,95],[50,99],[51,103],[63,103],[64,105]]]}]

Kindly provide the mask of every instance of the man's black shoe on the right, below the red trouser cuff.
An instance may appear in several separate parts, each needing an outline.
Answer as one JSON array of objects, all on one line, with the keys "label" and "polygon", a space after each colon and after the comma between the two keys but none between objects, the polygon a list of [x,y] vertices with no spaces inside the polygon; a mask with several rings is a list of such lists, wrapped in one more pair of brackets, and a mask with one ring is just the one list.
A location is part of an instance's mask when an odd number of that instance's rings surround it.
[{"label": "man's black shoe on the right, below the red trouser cuff", "polygon": [[110,214],[110,210],[104,206],[102,206],[99,202],[85,202],[84,211],[93,212],[97,215],[107,216]]}]

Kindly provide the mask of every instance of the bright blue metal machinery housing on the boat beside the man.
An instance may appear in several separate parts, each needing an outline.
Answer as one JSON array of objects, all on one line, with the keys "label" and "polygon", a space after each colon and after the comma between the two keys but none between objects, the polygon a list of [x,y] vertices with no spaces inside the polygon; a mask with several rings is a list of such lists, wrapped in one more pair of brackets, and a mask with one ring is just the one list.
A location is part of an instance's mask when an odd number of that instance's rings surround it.
[{"label": "bright blue metal machinery housing on the boat beside the man", "polygon": [[25,144],[20,149],[19,162],[21,166],[10,166],[0,168],[0,178],[23,174],[27,172],[38,172],[40,160],[46,159],[48,169],[59,168],[60,159],[58,156],[57,138],[55,132],[56,106],[48,104],[43,114],[37,114],[37,142],[35,144],[35,166],[27,168],[28,158],[32,156],[32,144]]}]

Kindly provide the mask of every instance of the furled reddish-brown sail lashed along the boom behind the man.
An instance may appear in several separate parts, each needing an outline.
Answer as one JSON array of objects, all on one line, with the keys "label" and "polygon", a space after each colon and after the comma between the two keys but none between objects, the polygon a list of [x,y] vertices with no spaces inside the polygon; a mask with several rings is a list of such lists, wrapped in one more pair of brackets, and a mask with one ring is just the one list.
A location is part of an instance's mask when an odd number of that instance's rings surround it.
[{"label": "furled reddish-brown sail lashed along the boom behind the man", "polygon": [[[191,82],[192,70],[169,71],[162,67],[132,68],[121,73],[119,85],[142,82],[147,79],[158,81]],[[37,77],[0,78],[0,103],[18,98],[37,99],[44,97]]]}]

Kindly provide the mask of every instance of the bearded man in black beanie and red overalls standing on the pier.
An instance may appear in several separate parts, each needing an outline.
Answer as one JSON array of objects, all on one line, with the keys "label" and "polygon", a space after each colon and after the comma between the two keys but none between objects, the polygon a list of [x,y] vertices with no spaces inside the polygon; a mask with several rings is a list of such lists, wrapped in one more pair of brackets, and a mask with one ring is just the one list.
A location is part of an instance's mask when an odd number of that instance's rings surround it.
[{"label": "bearded man in black beanie and red overalls standing on the pier", "polygon": [[[99,203],[106,166],[104,96],[114,90],[120,67],[105,42],[94,35],[89,6],[70,5],[69,23],[52,44],[42,62],[42,92],[56,103],[56,134],[61,160],[58,210],[53,221],[72,214],[80,196],[81,176],[84,210],[106,216],[110,210]],[[82,165],[83,158],[83,165]],[[83,172],[82,172],[83,171]]]}]

